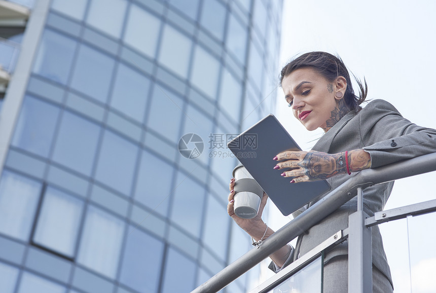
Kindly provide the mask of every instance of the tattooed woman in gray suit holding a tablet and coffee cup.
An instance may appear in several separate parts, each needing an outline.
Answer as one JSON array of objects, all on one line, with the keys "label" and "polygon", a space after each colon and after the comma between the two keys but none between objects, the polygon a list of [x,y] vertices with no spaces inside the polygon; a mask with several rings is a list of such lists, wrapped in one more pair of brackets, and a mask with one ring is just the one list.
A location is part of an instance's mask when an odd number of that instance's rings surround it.
[{"label": "tattooed woman in gray suit holding a tablet and coffee cup", "polygon": [[[358,97],[342,60],[325,52],[303,54],[283,67],[280,85],[295,118],[309,131],[321,127],[324,135],[310,152],[288,151],[272,158],[277,161],[274,167],[277,176],[294,177],[290,184],[326,179],[331,192],[361,170],[436,152],[436,130],[411,123],[384,100],[369,102],[362,109],[359,105],[367,96],[367,85],[365,83],[364,87],[358,80],[357,83]],[[264,194],[255,218],[242,219],[233,212],[233,187],[234,178],[230,181],[229,215],[255,241],[268,238],[274,231],[262,221],[267,195]],[[365,189],[364,211],[370,216],[381,211],[392,187],[393,182],[387,182]],[[347,228],[348,216],[356,210],[357,199],[353,198],[300,235],[295,248],[286,245],[271,254],[270,268],[278,272],[337,231]],[[392,292],[390,270],[377,226],[372,227],[372,241],[373,292]],[[325,256],[324,292],[348,291],[347,245],[344,242]]]}]

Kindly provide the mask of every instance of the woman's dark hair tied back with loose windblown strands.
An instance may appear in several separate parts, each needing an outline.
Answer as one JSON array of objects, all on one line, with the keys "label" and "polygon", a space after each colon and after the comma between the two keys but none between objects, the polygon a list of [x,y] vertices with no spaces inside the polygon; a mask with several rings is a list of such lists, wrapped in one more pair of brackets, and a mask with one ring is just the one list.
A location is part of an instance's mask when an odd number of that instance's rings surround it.
[{"label": "woman's dark hair tied back with loose windblown strands", "polygon": [[289,61],[280,72],[280,86],[282,86],[283,79],[287,77],[291,72],[303,67],[312,67],[319,74],[321,74],[328,81],[334,81],[337,77],[343,76],[347,81],[347,90],[344,94],[345,104],[350,110],[359,110],[359,106],[368,94],[368,85],[364,79],[364,84],[361,83],[354,75],[359,86],[359,96],[354,94],[353,86],[351,85],[350,75],[348,74],[347,67],[345,66],[342,59],[338,56],[326,52],[309,52],[305,53],[291,61]]}]

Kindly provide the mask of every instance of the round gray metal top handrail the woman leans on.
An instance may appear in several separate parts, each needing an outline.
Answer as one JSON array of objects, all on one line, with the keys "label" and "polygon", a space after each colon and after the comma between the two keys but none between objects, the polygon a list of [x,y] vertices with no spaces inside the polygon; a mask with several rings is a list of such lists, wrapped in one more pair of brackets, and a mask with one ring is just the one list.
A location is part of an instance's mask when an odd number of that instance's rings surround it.
[{"label": "round gray metal top handrail the woman leans on", "polygon": [[251,249],[191,293],[217,292],[256,266],[270,254],[311,228],[345,202],[357,195],[357,188],[367,188],[376,184],[436,171],[436,153],[365,169],[345,181],[337,189],[321,198],[313,206],[295,217],[292,221],[268,237],[259,249]]}]

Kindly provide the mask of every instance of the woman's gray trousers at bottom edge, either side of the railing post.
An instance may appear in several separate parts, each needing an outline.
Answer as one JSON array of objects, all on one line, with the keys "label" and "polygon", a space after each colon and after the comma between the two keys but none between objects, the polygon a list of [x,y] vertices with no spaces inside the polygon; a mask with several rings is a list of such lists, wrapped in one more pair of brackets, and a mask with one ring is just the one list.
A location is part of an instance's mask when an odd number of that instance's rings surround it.
[{"label": "woman's gray trousers at bottom edge, either side of the railing post", "polygon": [[[324,264],[324,293],[348,293],[348,255],[339,255]],[[373,293],[391,293],[388,278],[373,266]]]}]

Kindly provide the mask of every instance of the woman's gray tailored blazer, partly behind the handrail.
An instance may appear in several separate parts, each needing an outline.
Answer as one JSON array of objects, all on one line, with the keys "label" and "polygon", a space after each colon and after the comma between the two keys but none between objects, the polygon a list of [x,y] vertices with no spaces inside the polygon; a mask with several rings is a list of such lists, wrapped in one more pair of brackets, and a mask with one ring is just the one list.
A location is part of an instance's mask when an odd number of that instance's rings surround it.
[{"label": "woman's gray tailored blazer, partly behind the handrail", "polygon": [[[392,143],[392,140],[395,143]],[[330,154],[347,150],[364,149],[371,155],[371,168],[411,159],[436,152],[436,130],[424,128],[403,118],[393,105],[384,100],[373,100],[359,112],[351,111],[335,126],[326,132],[312,150]],[[357,173],[344,174],[327,179],[331,190]],[[364,210],[370,216],[383,210],[392,191],[393,181],[376,185],[364,190]],[[317,200],[322,198],[320,196]],[[302,213],[317,200],[299,209],[293,216]],[[324,218],[317,225],[300,235],[292,255],[285,266],[292,263],[300,255],[308,252],[316,245],[332,236],[339,230],[348,227],[348,216],[357,210],[357,198],[346,202],[338,210]],[[383,242],[378,226],[372,227],[373,265],[383,272],[391,281],[389,266],[383,250]],[[325,262],[337,255],[348,254],[348,244],[344,242],[328,252]],[[275,266],[274,271],[280,270]]]}]

